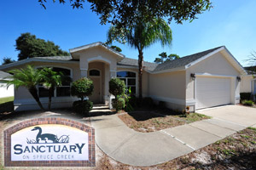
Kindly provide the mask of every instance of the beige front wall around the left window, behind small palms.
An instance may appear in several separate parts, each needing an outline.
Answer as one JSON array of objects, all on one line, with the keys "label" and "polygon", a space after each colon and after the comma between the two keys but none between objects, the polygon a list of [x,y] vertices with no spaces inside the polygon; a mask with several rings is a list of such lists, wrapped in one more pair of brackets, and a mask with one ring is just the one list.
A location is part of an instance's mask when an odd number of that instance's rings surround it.
[{"label": "beige front wall around the left window, behind small palms", "polygon": [[[73,81],[76,81],[80,77],[79,63],[75,64],[62,64],[62,63],[48,63],[48,62],[32,62],[30,65],[38,66],[56,66],[71,69],[71,74],[73,76]],[[26,65],[20,65],[24,67]],[[18,68],[18,67],[16,67]],[[73,101],[78,100],[76,97],[54,97],[52,98],[52,108],[61,108],[61,107],[71,107]],[[44,108],[47,108],[48,98],[40,98],[40,101],[44,105]],[[15,89],[15,111],[27,111],[27,110],[38,110],[38,104],[35,99],[32,98],[32,95],[28,92],[26,88]]]}]

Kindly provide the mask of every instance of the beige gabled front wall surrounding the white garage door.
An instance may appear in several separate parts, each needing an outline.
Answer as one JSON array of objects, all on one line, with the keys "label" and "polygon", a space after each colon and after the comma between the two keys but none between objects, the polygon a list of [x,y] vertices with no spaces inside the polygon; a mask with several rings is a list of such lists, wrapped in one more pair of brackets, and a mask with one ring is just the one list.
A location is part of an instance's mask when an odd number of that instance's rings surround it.
[{"label": "beige gabled front wall surrounding the white garage door", "polygon": [[[213,54],[208,59],[192,65],[186,71],[186,105],[195,111],[195,81],[190,77],[191,73],[195,73],[196,77],[230,77],[231,79],[231,102],[239,103],[240,100],[240,82],[236,77],[240,77],[239,71],[233,67],[230,62],[225,59],[220,52]],[[193,111],[193,110],[192,110]]]}]

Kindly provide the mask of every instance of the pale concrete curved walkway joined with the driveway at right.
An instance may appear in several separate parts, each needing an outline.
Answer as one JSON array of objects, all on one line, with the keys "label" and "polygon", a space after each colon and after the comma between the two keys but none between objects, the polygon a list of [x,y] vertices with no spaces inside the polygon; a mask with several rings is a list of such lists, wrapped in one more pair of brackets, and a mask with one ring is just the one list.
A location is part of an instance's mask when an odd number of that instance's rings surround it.
[{"label": "pale concrete curved walkway joined with the driveway at right", "polygon": [[101,150],[117,161],[134,166],[170,161],[256,124],[256,109],[253,108],[228,105],[200,112],[212,119],[154,133],[138,133],[117,115],[95,116],[90,121],[96,129],[96,144]]}]

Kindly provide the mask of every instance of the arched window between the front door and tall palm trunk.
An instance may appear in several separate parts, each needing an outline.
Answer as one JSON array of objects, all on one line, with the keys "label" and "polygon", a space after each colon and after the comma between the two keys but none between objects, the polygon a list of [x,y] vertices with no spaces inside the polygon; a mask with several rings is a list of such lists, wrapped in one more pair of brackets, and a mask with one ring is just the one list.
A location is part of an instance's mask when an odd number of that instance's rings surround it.
[{"label": "arched window between the front door and tall palm trunk", "polygon": [[136,94],[136,73],[131,71],[119,71],[117,77],[125,82],[127,88],[131,88],[131,93]]}]

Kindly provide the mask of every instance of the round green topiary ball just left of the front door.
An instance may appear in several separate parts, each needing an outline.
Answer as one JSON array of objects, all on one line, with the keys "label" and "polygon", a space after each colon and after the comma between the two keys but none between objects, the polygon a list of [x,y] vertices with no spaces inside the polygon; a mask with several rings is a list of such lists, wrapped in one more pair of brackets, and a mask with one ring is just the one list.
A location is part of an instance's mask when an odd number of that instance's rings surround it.
[{"label": "round green topiary ball just left of the front door", "polygon": [[84,97],[92,94],[93,88],[93,82],[89,78],[80,78],[72,83],[71,94],[79,97],[83,101]]}]

